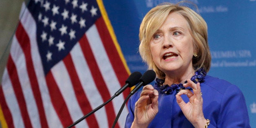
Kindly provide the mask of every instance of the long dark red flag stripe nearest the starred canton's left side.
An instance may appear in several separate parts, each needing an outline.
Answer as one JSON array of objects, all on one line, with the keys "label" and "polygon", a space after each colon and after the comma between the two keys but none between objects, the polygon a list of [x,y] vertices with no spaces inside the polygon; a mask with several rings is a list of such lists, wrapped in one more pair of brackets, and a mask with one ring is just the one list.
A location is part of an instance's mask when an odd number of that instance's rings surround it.
[{"label": "long dark red flag stripe nearest the starred canton's left side", "polygon": [[26,58],[26,68],[28,71],[29,81],[31,84],[31,88],[33,90],[35,102],[38,107],[38,113],[39,113],[39,117],[40,117],[41,127],[47,128],[48,124],[46,121],[44,107],[42,104],[41,92],[39,89],[38,81],[37,81],[37,78],[35,75],[35,69],[34,69],[33,62],[32,62],[32,57],[31,57],[31,46],[30,46],[29,36],[27,35],[27,33],[21,23],[19,23],[19,25],[18,25],[18,28],[16,31],[16,38],[17,38],[17,40],[23,50],[25,58]]}]

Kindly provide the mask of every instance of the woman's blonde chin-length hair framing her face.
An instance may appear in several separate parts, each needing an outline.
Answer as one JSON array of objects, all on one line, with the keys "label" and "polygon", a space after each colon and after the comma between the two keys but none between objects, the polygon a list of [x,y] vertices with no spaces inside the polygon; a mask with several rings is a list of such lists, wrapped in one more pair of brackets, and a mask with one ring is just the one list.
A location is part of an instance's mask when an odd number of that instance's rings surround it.
[{"label": "woman's blonde chin-length hair framing her face", "polygon": [[143,18],[139,29],[139,53],[142,60],[161,79],[165,78],[165,73],[154,64],[149,45],[154,33],[163,24],[168,15],[173,12],[179,13],[188,22],[188,28],[193,38],[194,51],[197,53],[197,57],[192,58],[194,70],[196,71],[199,68],[204,68],[206,72],[210,70],[211,54],[207,40],[207,24],[198,13],[189,7],[181,6],[180,3],[163,3],[152,8]]}]

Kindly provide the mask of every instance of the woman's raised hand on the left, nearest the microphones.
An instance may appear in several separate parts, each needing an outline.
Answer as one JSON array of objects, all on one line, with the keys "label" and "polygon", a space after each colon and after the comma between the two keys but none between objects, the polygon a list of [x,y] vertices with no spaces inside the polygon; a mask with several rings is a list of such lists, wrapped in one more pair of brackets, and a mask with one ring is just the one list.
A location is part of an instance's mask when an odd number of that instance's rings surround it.
[{"label": "woman's raised hand on the left, nearest the microphones", "polygon": [[131,128],[147,128],[158,113],[158,91],[152,85],[143,87],[135,103],[135,118]]}]

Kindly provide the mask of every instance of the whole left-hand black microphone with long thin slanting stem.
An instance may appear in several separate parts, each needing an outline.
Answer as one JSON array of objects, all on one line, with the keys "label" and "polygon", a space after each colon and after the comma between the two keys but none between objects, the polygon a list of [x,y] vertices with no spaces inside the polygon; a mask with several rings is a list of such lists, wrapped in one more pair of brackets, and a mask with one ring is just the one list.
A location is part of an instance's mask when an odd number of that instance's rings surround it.
[{"label": "whole left-hand black microphone with long thin slanting stem", "polygon": [[132,87],[135,84],[139,83],[139,79],[141,77],[141,73],[140,72],[133,72],[126,80],[126,84],[121,87],[116,93],[115,95],[113,95],[113,97],[111,97],[110,99],[108,99],[108,101],[106,101],[105,103],[103,103],[102,105],[98,106],[97,108],[93,109],[90,113],[88,113],[87,115],[85,115],[84,117],[78,119],[77,121],[75,121],[73,124],[71,124],[70,126],[68,126],[67,128],[71,128],[73,126],[75,126],[76,124],[78,124],[79,122],[81,122],[83,119],[89,117],[90,115],[92,115],[93,113],[95,113],[97,110],[99,110],[100,108],[102,108],[103,106],[105,106],[106,104],[108,104],[108,102],[110,102],[112,99],[114,99],[115,97],[117,97],[120,93],[122,93],[127,87]]}]

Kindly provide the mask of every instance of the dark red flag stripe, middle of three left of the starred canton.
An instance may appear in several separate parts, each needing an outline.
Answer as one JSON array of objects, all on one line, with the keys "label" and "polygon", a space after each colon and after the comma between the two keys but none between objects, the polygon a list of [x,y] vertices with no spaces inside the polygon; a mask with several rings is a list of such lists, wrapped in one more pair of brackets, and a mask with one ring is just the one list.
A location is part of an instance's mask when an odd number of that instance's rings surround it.
[{"label": "dark red flag stripe, middle of three left of the starred canton", "polygon": [[27,111],[26,107],[26,102],[24,95],[22,93],[22,87],[20,85],[20,79],[18,76],[17,68],[13,62],[13,59],[11,55],[8,58],[7,62],[7,71],[11,79],[11,84],[13,85],[13,90],[15,92],[16,99],[18,100],[21,116],[24,122],[24,126],[26,128],[32,128],[30,118],[29,118],[29,113]]}]

